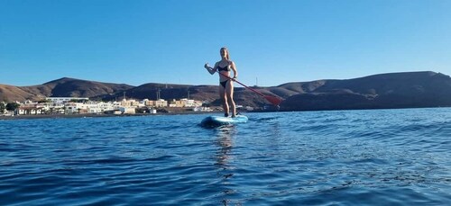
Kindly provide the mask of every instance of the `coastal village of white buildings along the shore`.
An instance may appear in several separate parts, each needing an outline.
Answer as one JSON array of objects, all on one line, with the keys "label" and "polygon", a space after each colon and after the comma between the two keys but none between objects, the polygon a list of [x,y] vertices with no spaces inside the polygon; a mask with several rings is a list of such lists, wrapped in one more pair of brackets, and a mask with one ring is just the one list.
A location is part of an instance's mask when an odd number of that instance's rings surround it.
[{"label": "coastal village of white buildings along the shore", "polygon": [[[122,99],[114,102],[98,102],[87,97],[46,97],[39,102],[23,103],[0,102],[0,115],[45,115],[45,114],[135,114],[135,113],[167,113],[171,110],[183,109],[191,112],[212,112],[207,103],[192,99],[137,101]],[[216,109],[217,110],[217,109]]]}]

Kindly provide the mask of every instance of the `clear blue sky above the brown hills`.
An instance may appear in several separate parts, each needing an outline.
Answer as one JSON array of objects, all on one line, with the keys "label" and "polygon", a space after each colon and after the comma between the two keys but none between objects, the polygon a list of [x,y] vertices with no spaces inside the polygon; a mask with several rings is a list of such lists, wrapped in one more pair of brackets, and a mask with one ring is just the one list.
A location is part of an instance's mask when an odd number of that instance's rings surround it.
[{"label": "clear blue sky above the brown hills", "polygon": [[0,84],[217,85],[223,46],[246,85],[451,75],[451,1],[0,0]]}]

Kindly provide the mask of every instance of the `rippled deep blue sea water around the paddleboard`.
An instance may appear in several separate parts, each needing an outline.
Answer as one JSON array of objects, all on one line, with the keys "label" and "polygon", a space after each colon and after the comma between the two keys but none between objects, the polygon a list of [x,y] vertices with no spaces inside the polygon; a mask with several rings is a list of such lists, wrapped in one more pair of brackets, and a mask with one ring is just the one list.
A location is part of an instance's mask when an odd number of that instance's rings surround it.
[{"label": "rippled deep blue sea water around the paddleboard", "polygon": [[451,109],[0,121],[4,205],[446,205]]}]

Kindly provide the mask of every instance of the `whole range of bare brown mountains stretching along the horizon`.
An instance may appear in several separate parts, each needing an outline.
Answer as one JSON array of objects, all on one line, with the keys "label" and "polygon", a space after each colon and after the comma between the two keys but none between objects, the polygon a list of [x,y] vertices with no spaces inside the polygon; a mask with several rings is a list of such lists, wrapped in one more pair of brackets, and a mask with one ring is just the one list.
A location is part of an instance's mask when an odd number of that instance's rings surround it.
[{"label": "whole range of bare brown mountains stretching along the horizon", "polygon": [[[347,110],[451,106],[451,78],[440,73],[403,72],[353,79],[325,79],[256,87],[265,95],[284,99],[281,111]],[[40,100],[45,96],[126,98],[190,98],[220,105],[218,85],[174,85],[149,83],[139,86],[61,78],[43,85],[0,85],[0,101]],[[268,103],[244,87],[235,87],[235,103],[261,108]]]}]

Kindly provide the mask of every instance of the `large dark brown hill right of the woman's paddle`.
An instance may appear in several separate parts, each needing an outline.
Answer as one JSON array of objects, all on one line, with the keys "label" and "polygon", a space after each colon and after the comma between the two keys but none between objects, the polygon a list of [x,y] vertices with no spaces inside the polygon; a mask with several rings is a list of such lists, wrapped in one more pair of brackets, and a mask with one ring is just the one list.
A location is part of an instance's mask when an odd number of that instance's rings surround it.
[{"label": "large dark brown hill right of the woman's paddle", "polygon": [[[302,87],[290,83],[282,87]],[[451,106],[451,78],[435,72],[406,72],[348,80],[322,80],[308,93],[291,95],[285,111]]]}]

